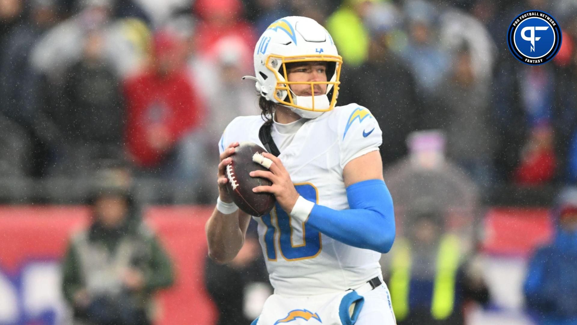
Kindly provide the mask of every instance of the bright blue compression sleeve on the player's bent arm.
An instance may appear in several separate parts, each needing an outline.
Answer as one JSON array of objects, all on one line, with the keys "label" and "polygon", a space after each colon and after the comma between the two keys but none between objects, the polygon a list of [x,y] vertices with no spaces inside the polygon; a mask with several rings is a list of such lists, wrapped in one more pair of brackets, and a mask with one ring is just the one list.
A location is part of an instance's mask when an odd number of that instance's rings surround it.
[{"label": "bright blue compression sleeve on the player's bent arm", "polygon": [[385,182],[369,179],[347,187],[350,209],[315,204],[308,224],[347,245],[387,253],[395,240],[395,212]]}]

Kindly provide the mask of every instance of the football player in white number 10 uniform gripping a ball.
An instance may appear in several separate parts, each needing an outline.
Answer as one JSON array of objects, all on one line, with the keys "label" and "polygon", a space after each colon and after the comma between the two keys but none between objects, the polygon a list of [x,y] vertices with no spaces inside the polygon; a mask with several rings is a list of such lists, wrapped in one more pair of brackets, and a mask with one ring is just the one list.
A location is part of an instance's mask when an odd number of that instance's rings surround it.
[{"label": "football player in white number 10 uniform gripping a ball", "polygon": [[331,35],[306,17],[272,23],[254,49],[261,116],[234,119],[219,141],[219,198],[207,221],[209,256],[232,260],[250,217],[226,191],[239,142],[265,147],[271,180],[254,192],[276,197],[258,222],[275,289],[256,325],[395,324],[379,258],[395,239],[391,194],[379,154],[382,135],[367,108],[335,106],[342,58]]}]

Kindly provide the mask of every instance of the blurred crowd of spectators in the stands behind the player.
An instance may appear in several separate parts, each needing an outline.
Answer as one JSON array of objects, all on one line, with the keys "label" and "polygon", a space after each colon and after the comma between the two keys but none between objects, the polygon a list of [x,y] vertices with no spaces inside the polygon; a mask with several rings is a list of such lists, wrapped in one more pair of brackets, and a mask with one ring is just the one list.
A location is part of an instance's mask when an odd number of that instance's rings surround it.
[{"label": "blurred crowd of spectators in the stands behind the player", "polygon": [[[563,29],[538,67],[505,42],[529,9]],[[379,120],[385,168],[407,157],[411,132],[440,130],[481,189],[577,181],[571,0],[0,0],[0,177],[83,183],[123,161],[152,201],[170,189],[168,203],[213,202],[220,134],[260,112],[241,76],[258,36],[288,15],[331,32],[339,102]]]}]

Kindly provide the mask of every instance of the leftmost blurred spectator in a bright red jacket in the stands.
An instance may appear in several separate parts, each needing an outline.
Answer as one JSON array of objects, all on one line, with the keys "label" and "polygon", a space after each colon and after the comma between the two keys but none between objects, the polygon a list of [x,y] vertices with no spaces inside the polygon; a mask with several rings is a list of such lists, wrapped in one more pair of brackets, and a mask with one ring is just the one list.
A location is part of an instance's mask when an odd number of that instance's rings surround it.
[{"label": "leftmost blurred spectator in a bright red jacket in the stands", "polygon": [[185,68],[182,40],[155,35],[149,67],[126,81],[126,145],[134,164],[166,175],[173,171],[179,141],[196,130],[201,105]]}]

